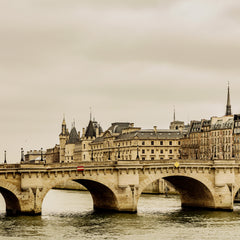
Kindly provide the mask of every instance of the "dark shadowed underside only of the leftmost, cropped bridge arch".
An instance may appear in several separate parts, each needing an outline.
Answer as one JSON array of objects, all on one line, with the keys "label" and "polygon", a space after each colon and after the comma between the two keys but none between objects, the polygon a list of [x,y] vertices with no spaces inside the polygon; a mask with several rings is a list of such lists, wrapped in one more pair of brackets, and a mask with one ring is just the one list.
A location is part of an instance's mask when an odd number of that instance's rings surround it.
[{"label": "dark shadowed underside only of the leftmost, cropped bridge arch", "polygon": [[4,187],[0,187],[0,193],[2,194],[6,203],[6,214],[8,216],[20,214],[20,203],[16,195]]}]

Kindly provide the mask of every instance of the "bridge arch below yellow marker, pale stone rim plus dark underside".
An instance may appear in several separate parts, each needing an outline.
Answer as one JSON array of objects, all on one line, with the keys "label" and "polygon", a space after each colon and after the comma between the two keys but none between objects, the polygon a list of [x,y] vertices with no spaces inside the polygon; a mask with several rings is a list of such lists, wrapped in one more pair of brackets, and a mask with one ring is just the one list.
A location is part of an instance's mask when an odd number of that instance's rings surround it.
[{"label": "bridge arch below yellow marker, pale stone rim plus dark underside", "polygon": [[149,176],[140,184],[139,197],[149,184],[159,179],[164,179],[175,187],[180,194],[182,207],[215,208],[214,190],[210,181],[193,176],[175,174]]}]

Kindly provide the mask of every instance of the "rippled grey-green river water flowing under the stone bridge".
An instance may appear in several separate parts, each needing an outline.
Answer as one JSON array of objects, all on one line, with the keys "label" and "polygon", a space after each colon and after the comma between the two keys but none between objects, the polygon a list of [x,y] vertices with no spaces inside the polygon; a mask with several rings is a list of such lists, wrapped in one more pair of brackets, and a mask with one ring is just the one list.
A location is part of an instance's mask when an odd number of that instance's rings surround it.
[{"label": "rippled grey-green river water flowing under the stone bridge", "polygon": [[98,213],[88,192],[51,190],[42,216],[7,217],[0,197],[0,239],[240,238],[240,206],[233,212],[182,210],[178,196],[142,195],[138,213]]}]

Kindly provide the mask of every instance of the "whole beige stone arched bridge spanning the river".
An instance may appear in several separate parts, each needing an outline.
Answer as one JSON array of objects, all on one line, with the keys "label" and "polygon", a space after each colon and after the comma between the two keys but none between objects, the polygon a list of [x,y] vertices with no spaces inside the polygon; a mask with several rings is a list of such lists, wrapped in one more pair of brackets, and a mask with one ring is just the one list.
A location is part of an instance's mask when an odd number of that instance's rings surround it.
[{"label": "whole beige stone arched bridge spanning the river", "polygon": [[[83,171],[77,171],[80,165]],[[38,215],[48,191],[73,180],[89,190],[94,209],[136,212],[142,191],[161,178],[179,191],[182,207],[233,210],[233,199],[240,188],[240,162],[121,160],[2,164],[0,192],[8,215]]]}]

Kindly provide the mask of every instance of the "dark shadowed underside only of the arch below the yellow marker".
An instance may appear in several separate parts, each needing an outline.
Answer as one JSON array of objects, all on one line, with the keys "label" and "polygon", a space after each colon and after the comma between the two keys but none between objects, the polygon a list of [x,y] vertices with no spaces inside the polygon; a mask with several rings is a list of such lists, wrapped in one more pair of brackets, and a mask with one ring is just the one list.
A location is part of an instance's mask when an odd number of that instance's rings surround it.
[{"label": "dark shadowed underside only of the arch below the yellow marker", "polygon": [[163,179],[179,192],[183,208],[215,208],[213,195],[202,182],[186,176],[168,176]]}]

